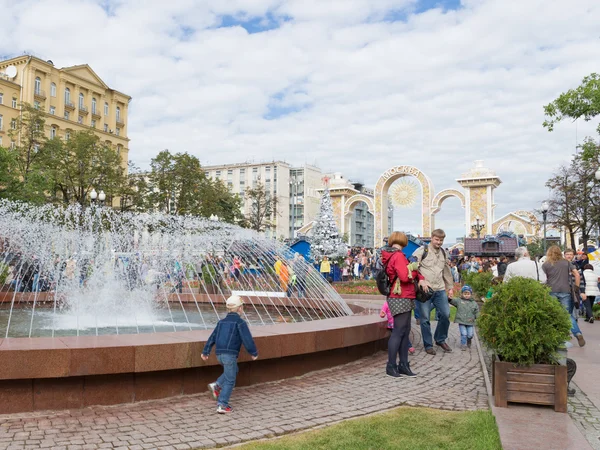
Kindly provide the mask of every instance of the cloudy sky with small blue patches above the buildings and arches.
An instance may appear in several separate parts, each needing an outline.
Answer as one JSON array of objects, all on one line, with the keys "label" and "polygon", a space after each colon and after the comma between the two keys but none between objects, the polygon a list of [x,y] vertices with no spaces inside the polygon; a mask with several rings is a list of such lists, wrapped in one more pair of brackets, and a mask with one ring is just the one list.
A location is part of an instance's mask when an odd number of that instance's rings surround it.
[{"label": "cloudy sky with small blue patches above the buildings and arches", "polygon": [[[130,158],[285,160],[374,186],[414,165],[436,191],[483,159],[496,218],[533,209],[596,123],[543,105],[600,71],[597,0],[0,0],[0,56],[88,63],[133,97]],[[420,232],[419,208],[396,228]],[[463,234],[456,199],[436,218]]]}]

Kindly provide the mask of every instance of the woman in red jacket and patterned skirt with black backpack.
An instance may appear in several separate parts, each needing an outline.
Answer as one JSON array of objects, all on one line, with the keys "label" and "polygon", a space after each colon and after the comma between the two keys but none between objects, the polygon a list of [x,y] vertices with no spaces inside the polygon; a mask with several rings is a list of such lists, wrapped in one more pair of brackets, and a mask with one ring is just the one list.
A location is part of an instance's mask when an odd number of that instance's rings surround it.
[{"label": "woman in red jacket and patterned skirt with black backpack", "polygon": [[[387,298],[388,307],[394,317],[394,330],[388,341],[388,364],[386,374],[391,377],[415,377],[408,362],[411,312],[415,308],[414,280],[423,276],[411,270],[402,248],[408,244],[404,233],[394,231],[388,238],[388,246],[381,251],[381,261],[391,282],[391,292]],[[396,365],[396,355],[400,364]]]}]

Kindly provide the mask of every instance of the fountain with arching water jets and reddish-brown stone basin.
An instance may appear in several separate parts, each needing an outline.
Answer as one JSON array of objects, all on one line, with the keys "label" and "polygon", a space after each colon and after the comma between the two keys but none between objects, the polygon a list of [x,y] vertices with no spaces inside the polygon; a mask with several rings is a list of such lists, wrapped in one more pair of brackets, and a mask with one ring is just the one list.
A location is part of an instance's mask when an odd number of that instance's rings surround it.
[{"label": "fountain with arching water jets and reddish-brown stone basin", "polygon": [[[254,231],[0,201],[0,413],[202,390],[218,364],[200,351],[231,294],[262,360],[240,384],[352,360],[385,337],[378,317],[354,314],[311,264]],[[70,396],[57,394],[65,385]]]}]

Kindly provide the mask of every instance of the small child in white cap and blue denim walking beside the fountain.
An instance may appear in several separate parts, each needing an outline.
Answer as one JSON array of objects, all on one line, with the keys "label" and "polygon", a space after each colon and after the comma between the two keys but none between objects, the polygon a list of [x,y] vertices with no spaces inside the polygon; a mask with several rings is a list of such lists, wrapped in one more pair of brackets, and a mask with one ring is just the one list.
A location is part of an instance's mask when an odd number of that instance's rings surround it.
[{"label": "small child in white cap and blue denim walking beside the fountain", "polygon": [[225,305],[227,316],[219,320],[208,341],[206,341],[204,350],[202,350],[202,359],[206,361],[213,345],[216,345],[215,353],[219,363],[223,366],[223,375],[216,382],[208,385],[208,390],[217,401],[217,412],[219,414],[227,414],[232,411],[231,406],[229,406],[229,397],[231,397],[235,386],[238,373],[237,359],[242,344],[244,344],[246,351],[252,355],[253,360],[258,358],[258,351],[248,324],[240,317],[244,310],[242,299],[237,295],[232,295],[227,299]]}]

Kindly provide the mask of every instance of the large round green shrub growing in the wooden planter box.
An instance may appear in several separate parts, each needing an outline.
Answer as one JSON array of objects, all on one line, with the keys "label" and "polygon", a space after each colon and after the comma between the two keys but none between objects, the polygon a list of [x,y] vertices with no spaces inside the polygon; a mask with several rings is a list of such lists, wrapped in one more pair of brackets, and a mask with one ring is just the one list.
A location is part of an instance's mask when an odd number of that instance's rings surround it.
[{"label": "large round green shrub growing in the wooden planter box", "polygon": [[569,314],[536,280],[511,278],[495,289],[477,320],[479,336],[502,361],[520,366],[556,364],[559,346],[569,339]]}]

